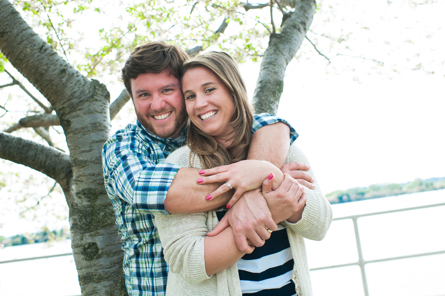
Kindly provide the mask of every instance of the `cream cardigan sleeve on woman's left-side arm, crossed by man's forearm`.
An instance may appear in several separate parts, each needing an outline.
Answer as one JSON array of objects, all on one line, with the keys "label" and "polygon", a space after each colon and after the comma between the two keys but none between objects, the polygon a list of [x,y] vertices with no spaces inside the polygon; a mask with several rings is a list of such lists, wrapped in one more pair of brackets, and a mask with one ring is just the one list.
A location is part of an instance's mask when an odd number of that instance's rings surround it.
[{"label": "cream cardigan sleeve on woman's left-side arm, crossed by man's forearm", "polygon": [[[189,159],[190,149],[184,146],[172,152],[165,163],[190,167]],[[199,163],[195,162],[193,166],[197,167]],[[204,260],[204,238],[209,231],[207,215],[205,212],[154,215],[170,270],[190,284],[210,278],[206,273]]]}]

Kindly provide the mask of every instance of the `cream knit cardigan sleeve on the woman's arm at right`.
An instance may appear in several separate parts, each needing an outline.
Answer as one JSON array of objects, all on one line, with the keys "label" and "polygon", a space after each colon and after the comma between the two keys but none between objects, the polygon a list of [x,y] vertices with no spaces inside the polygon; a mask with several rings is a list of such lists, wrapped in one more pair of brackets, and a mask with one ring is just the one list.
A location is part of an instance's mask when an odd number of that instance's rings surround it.
[{"label": "cream knit cardigan sleeve on the woman's arm at right", "polygon": [[[310,165],[306,155],[295,144],[291,145],[286,162],[300,162]],[[331,225],[332,209],[320,190],[312,167],[308,172],[314,179],[315,189],[312,190],[305,187],[307,201],[302,218],[297,223],[290,223],[288,221],[285,223],[286,227],[296,234],[310,240],[321,241]]]}]

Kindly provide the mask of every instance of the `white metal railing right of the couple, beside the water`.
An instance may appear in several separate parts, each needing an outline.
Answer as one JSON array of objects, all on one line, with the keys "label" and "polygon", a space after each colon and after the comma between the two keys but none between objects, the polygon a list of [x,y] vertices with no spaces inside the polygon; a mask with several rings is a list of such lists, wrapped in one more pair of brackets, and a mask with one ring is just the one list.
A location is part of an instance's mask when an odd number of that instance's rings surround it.
[{"label": "white metal railing right of the couple, beside the water", "polygon": [[345,263],[345,264],[337,264],[337,265],[331,265],[331,266],[311,268],[311,271],[322,270],[322,269],[329,269],[329,268],[334,268],[334,267],[345,267],[345,266],[358,265],[360,267],[360,271],[361,271],[361,278],[362,278],[362,281],[363,281],[364,295],[365,296],[369,296],[368,283],[366,281],[366,273],[365,273],[365,269],[364,269],[365,264],[367,264],[367,263],[375,263],[375,262],[382,262],[382,261],[397,260],[397,259],[405,259],[405,258],[411,258],[411,257],[419,257],[419,256],[445,254],[445,250],[438,251],[438,252],[429,252],[429,253],[419,253],[419,254],[398,256],[398,257],[387,257],[387,258],[374,259],[374,260],[364,260],[363,259],[363,254],[362,254],[362,251],[361,251],[360,235],[358,233],[357,219],[359,217],[364,217],[364,216],[380,215],[380,214],[387,214],[387,213],[400,212],[400,211],[411,211],[411,210],[418,210],[418,209],[432,208],[432,207],[439,207],[439,206],[445,206],[445,203],[434,204],[434,205],[427,205],[427,206],[418,206],[418,207],[405,208],[405,209],[399,209],[399,210],[378,211],[378,212],[372,212],[372,213],[357,214],[357,215],[350,215],[350,216],[334,218],[333,221],[345,220],[345,219],[352,219],[353,220],[354,232],[355,232],[356,244],[357,244],[358,261],[357,262],[352,262],[352,263]]}]

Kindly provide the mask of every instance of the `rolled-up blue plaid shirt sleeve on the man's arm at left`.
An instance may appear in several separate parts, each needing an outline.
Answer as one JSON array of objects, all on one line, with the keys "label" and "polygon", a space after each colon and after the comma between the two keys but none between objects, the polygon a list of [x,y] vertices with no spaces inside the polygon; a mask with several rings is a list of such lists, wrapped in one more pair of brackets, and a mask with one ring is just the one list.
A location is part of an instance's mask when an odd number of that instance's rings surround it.
[{"label": "rolled-up blue plaid shirt sleeve on the man's arm at left", "polygon": [[180,167],[158,164],[164,156],[157,150],[131,134],[115,135],[105,143],[102,166],[110,199],[123,200],[141,212],[168,214],[164,200]]}]

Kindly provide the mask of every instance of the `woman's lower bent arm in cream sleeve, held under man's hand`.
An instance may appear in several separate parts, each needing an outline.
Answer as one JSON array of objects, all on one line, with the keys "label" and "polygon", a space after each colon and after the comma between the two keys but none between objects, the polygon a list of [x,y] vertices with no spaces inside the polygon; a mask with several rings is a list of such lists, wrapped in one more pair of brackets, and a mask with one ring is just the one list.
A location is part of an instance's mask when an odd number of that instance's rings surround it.
[{"label": "woman's lower bent arm in cream sleeve, held under man's hand", "polygon": [[[244,255],[236,246],[231,227],[216,236],[206,236],[208,219],[216,219],[208,215],[215,212],[154,215],[170,270],[191,284],[230,267]],[[250,247],[248,253],[253,250]]]}]

